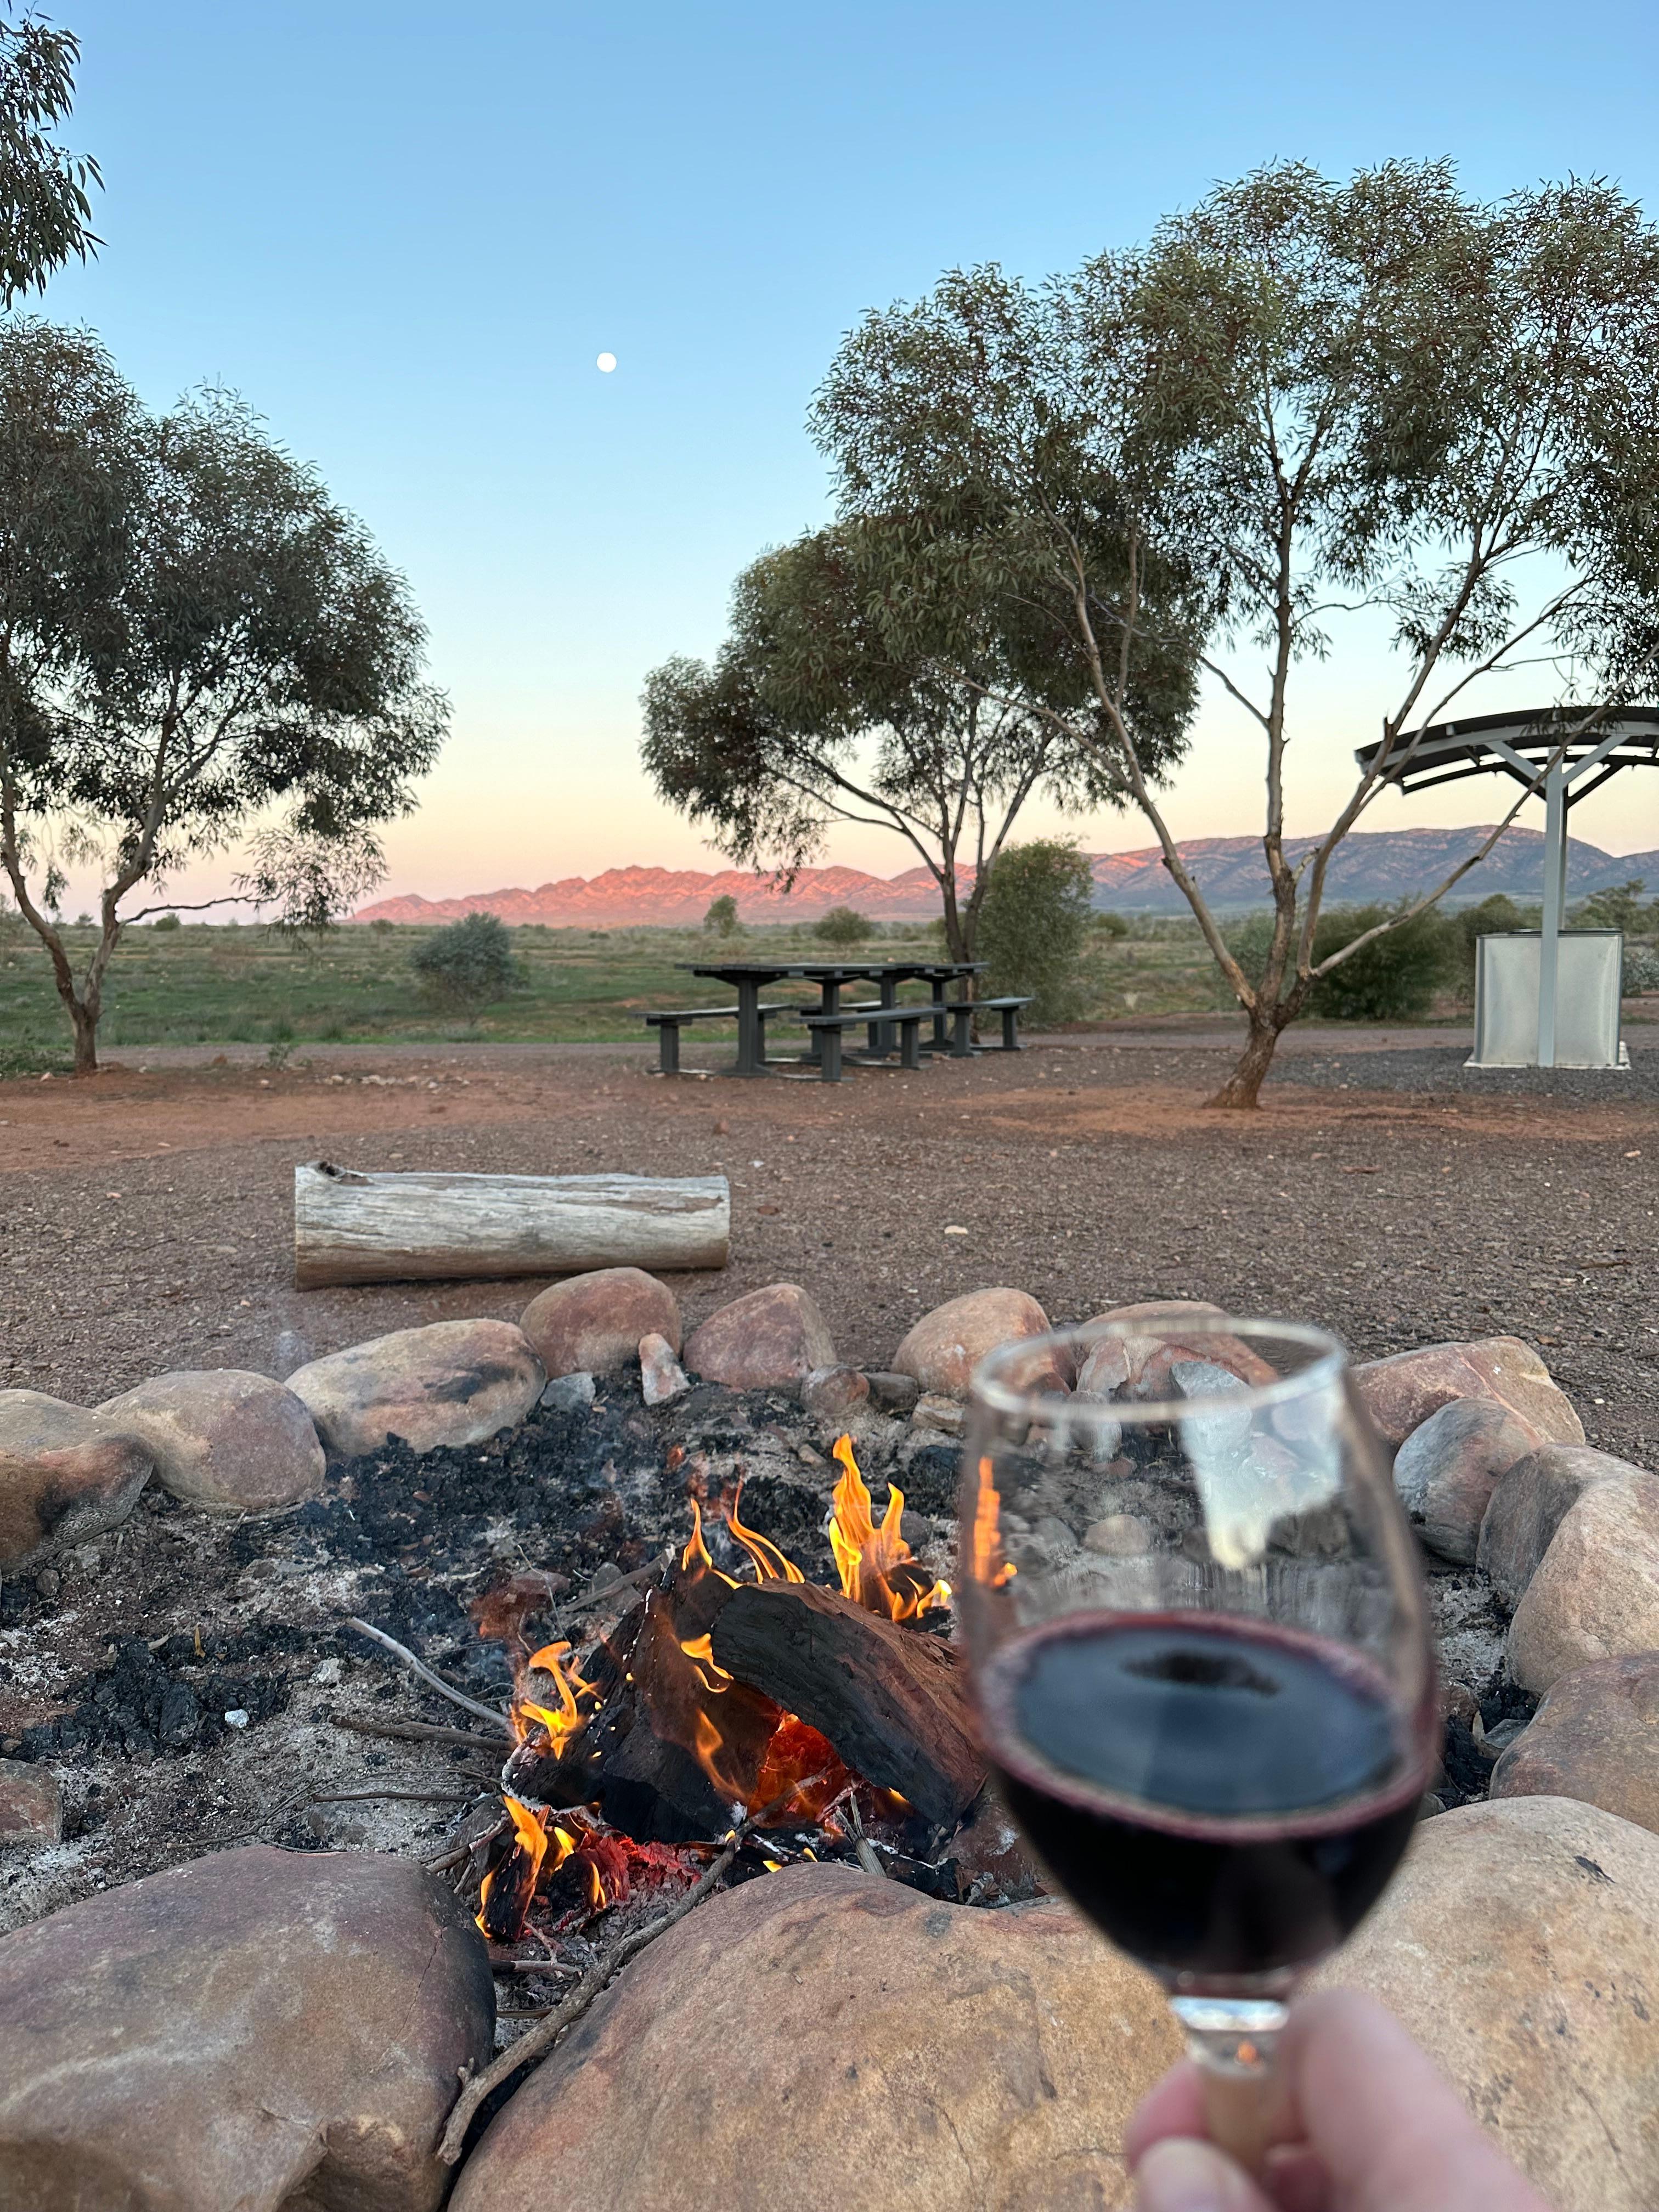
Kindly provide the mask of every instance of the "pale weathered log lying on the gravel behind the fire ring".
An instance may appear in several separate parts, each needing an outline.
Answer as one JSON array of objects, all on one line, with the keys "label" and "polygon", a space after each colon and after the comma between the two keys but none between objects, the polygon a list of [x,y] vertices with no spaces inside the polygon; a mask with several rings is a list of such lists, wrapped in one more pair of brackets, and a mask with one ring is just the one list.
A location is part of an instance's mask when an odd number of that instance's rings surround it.
[{"label": "pale weathered log lying on the gravel behind the fire ring", "polygon": [[294,1285],[723,1267],[723,1175],[409,1175],[294,1168]]}]

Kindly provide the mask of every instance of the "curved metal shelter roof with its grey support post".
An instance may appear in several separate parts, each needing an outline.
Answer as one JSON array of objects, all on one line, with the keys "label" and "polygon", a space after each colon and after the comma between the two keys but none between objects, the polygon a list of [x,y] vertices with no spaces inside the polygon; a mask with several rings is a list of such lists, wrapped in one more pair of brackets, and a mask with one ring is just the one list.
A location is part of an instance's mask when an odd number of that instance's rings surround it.
[{"label": "curved metal shelter roof with its grey support post", "polygon": [[1431,792],[1464,776],[1513,776],[1544,799],[1544,931],[1537,969],[1537,1064],[1555,1066],[1555,991],[1566,909],[1566,818],[1621,768],[1659,768],[1659,706],[1524,708],[1471,714],[1425,730],[1402,730],[1391,743],[1360,745],[1367,774],[1400,792]]}]

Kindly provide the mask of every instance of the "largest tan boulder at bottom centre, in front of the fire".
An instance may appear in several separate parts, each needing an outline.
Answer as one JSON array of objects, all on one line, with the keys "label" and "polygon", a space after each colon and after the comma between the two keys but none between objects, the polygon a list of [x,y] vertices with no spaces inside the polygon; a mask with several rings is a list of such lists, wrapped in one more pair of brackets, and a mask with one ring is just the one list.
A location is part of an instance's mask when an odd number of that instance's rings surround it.
[{"label": "largest tan boulder at bottom centre, in front of the fire", "polygon": [[451,2212],[546,2212],[549,2190],[606,2212],[1121,2205],[1124,2128],[1177,2053],[1150,1975],[1053,1900],[975,1911],[792,1867],[628,1966]]}]

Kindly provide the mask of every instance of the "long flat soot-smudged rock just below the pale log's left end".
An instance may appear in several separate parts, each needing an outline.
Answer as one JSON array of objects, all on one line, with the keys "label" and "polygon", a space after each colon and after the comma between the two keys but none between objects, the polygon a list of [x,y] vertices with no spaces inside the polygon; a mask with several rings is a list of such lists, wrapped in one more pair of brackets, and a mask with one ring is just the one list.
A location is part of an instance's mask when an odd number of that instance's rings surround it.
[{"label": "long flat soot-smudged rock just below the pale log's left end", "polygon": [[546,1371],[511,1321],[434,1321],[296,1367],[288,1387],[330,1451],[356,1458],[400,1436],[411,1451],[482,1444],[515,1429]]}]

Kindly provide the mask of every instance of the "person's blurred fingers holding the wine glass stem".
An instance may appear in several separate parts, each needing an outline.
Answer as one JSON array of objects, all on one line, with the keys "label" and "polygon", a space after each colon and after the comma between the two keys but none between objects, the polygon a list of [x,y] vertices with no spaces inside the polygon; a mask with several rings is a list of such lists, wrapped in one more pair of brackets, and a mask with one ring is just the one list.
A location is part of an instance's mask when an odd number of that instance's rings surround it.
[{"label": "person's blurred fingers holding the wine glass stem", "polygon": [[1190,2062],[1146,2095],[1126,2157],[1137,2212],[1551,2212],[1394,2013],[1352,1989],[1290,2015],[1263,2181],[1203,2139]]}]

